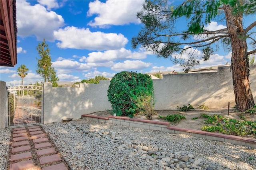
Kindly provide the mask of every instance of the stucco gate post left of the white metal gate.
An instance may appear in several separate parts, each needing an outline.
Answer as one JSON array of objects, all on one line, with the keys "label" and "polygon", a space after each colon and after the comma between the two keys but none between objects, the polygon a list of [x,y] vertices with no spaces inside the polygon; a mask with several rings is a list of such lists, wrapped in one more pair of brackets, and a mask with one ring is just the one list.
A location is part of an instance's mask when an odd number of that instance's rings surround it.
[{"label": "stucco gate post left of the white metal gate", "polygon": [[0,127],[6,126],[6,82],[0,81]]}]

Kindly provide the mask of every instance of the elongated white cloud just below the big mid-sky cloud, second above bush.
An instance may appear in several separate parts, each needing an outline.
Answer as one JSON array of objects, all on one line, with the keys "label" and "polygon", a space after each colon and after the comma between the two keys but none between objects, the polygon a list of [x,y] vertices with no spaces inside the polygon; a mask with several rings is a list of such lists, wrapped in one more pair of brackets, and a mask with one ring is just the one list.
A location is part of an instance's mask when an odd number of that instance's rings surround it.
[{"label": "elongated white cloud just below the big mid-sky cloud, second above bush", "polygon": [[132,52],[131,50],[121,48],[118,50],[108,50],[104,52],[92,52],[89,57],[82,57],[80,61],[88,63],[102,63],[107,61],[115,61],[121,59],[145,59],[145,53]]}]

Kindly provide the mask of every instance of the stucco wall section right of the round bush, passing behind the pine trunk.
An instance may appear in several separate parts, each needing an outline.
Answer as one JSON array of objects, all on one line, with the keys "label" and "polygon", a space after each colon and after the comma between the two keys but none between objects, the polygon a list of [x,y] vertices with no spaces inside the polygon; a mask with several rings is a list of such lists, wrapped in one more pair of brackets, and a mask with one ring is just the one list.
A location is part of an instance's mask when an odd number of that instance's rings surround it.
[{"label": "stucco wall section right of the round bush, passing behind the pine trunk", "polygon": [[[256,64],[250,66],[251,90],[256,101]],[[155,109],[177,109],[177,106],[205,104],[209,108],[234,107],[235,98],[230,66],[218,72],[164,75],[154,80]]]}]

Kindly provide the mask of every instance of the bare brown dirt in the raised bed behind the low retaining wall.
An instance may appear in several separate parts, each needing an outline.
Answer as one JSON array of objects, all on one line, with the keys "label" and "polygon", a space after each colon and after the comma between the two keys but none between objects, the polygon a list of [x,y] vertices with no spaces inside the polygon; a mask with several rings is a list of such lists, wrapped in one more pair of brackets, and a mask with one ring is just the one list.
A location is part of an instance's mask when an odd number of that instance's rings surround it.
[{"label": "bare brown dirt in the raised bed behind the low retaining wall", "polygon": [[[174,115],[174,114],[181,114],[186,117],[186,119],[182,119],[178,124],[174,124],[174,126],[177,127],[183,127],[188,129],[197,129],[201,130],[202,126],[205,125],[204,118],[200,115],[202,113],[208,114],[208,115],[214,115],[214,114],[220,114],[224,115],[227,118],[230,119],[237,119],[242,120],[241,116],[243,116],[248,121],[254,121],[256,120],[256,114],[249,115],[249,114],[243,114],[243,112],[237,112],[235,109],[230,109],[230,112],[228,114],[228,109],[210,109],[210,110],[203,110],[203,109],[196,109],[192,111],[179,111],[179,110],[156,110],[157,114],[153,116],[154,121],[165,121],[161,118],[159,118],[159,115]],[[98,111],[95,113],[91,113],[92,115],[98,115],[98,116],[105,116],[112,115],[110,111]],[[194,117],[197,117],[197,119],[192,119]],[[137,119],[146,119],[144,115],[134,115],[134,118]]]}]

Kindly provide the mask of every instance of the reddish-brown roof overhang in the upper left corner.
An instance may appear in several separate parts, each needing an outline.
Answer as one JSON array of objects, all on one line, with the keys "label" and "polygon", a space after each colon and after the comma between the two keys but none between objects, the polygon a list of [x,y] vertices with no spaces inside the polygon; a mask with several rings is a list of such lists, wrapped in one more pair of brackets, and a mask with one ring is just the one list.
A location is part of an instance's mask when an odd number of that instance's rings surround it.
[{"label": "reddish-brown roof overhang in the upper left corner", "polygon": [[16,1],[0,0],[0,7],[0,66],[13,67],[17,64]]}]

